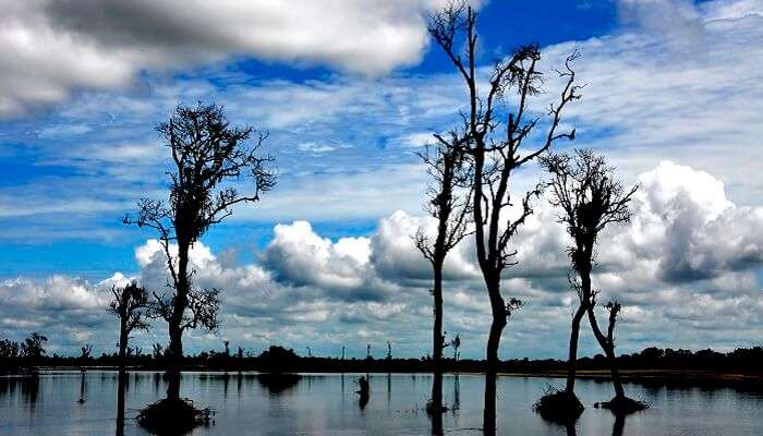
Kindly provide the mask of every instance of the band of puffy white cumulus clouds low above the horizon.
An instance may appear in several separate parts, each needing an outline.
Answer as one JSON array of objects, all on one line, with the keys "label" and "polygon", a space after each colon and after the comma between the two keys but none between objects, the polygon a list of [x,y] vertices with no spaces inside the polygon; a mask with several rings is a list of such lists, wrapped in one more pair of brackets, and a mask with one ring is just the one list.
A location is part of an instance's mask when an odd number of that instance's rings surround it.
[{"label": "band of puffy white cumulus clouds low above the horizon", "polygon": [[[600,300],[625,305],[620,349],[755,344],[763,329],[758,279],[763,207],[736,205],[715,177],[670,161],[638,179],[633,220],[604,234],[594,275]],[[514,240],[519,265],[504,278],[505,294],[526,302],[505,335],[505,356],[562,358],[567,340],[574,303],[566,281],[569,240],[556,210],[538,202]],[[400,354],[425,353],[429,266],[414,250],[411,234],[419,228],[432,231],[431,226],[428,218],[401,210],[379,220],[371,234],[355,238],[323,237],[307,221],[277,225],[270,243],[244,264],[196,243],[191,253],[194,283],[223,290],[223,325],[217,335],[191,332],[189,349],[218,347],[220,338],[228,338],[255,350],[283,343],[336,353],[348,346],[362,355],[365,343],[391,339]],[[445,319],[446,330],[464,338],[464,355],[481,356],[489,305],[472,253],[467,239],[448,261]],[[136,279],[161,292],[167,282],[157,241],[138,246],[135,257],[135,276],[114,274],[98,283],[63,276],[0,283],[2,327],[15,337],[50,331],[62,349],[86,340],[110,350],[114,326],[104,311],[110,287]],[[164,326],[155,327],[136,343],[164,341]],[[590,336],[582,347],[598,352]]]}]

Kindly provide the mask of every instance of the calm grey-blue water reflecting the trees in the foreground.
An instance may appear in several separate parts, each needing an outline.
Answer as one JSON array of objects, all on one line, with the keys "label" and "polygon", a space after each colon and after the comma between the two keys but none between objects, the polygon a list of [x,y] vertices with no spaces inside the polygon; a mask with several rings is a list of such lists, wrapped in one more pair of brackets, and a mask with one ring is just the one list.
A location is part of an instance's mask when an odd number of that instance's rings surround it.
[{"label": "calm grey-blue water reflecting the trees in the foreground", "polygon": [[[427,435],[424,411],[432,377],[371,374],[371,400],[361,409],[356,380],[362,374],[303,375],[293,385],[272,385],[256,374],[186,373],[182,395],[217,413],[214,425],[193,435]],[[109,435],[117,428],[117,374],[50,372],[37,382],[0,377],[0,435]],[[158,373],[132,373],[126,388],[125,435],[146,435],[135,411],[161,398]],[[646,412],[616,423],[605,410],[591,407],[611,397],[607,383],[579,380],[586,410],[574,428],[543,421],[531,404],[549,384],[562,380],[500,377],[498,434],[502,435],[763,435],[763,395],[734,389],[666,388],[628,384],[630,397],[652,404]],[[483,377],[446,375],[445,401],[458,402],[444,415],[445,434],[479,435],[482,426]],[[80,404],[82,396],[85,402]],[[620,427],[621,428],[618,428]],[[568,433],[569,432],[569,433]]]}]

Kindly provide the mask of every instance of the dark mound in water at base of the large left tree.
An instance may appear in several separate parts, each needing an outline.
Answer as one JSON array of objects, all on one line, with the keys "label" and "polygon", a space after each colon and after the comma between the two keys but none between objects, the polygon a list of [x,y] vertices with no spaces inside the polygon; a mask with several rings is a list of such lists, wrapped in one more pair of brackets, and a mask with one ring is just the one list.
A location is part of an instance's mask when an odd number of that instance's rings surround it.
[{"label": "dark mound in water at base of the large left tree", "polygon": [[187,398],[166,398],[148,404],[137,414],[137,423],[156,435],[182,435],[199,425],[209,425],[215,412],[197,409]]}]

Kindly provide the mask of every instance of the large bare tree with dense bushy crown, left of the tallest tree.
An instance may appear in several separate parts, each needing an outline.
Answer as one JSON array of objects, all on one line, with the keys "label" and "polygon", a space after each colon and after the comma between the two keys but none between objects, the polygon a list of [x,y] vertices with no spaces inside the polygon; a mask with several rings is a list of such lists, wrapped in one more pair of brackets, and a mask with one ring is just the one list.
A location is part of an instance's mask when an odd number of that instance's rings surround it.
[{"label": "large bare tree with dense bushy crown, left of the tallest tree", "polygon": [[[193,283],[189,252],[214,225],[232,214],[239,203],[259,201],[276,183],[269,155],[261,155],[267,134],[251,126],[231,126],[222,107],[178,106],[168,122],[157,125],[172,156],[174,168],[168,172],[168,201],[143,198],[135,215],[124,223],[154,229],[167,257],[170,272],[169,295],[154,293],[156,311],[168,325],[170,342],[166,355],[173,368],[168,398],[178,398],[182,335],[186,329],[218,327],[219,290],[199,289]],[[246,142],[254,136],[253,145]],[[242,194],[231,182],[241,177],[252,181],[251,191]],[[172,253],[177,245],[177,254]]]}]

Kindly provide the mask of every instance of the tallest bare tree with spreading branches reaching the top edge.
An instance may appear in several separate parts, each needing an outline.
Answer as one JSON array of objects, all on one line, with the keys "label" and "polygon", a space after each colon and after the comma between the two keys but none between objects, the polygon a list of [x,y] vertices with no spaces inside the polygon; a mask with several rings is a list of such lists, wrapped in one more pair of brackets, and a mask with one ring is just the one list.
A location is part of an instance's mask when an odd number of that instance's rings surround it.
[{"label": "tallest bare tree with spreading branches reaching the top edge", "polygon": [[[498,364],[500,336],[508,317],[522,306],[518,299],[508,302],[500,291],[501,274],[516,264],[517,253],[511,239],[533,213],[531,199],[537,190],[516,198],[511,192],[512,175],[525,164],[546,153],[559,140],[574,140],[574,130],[559,133],[562,111],[580,98],[570,55],[562,70],[565,81],[558,101],[550,104],[547,117],[528,109],[529,100],[543,92],[543,73],[538,71],[541,51],[536,45],[522,46],[510,57],[498,60],[483,82],[476,68],[477,14],[465,2],[451,2],[431,19],[429,34],[443,48],[464,81],[469,97],[468,109],[461,112],[462,125],[457,130],[462,153],[473,166],[472,215],[476,256],[491,301],[493,322],[486,349],[486,387],[484,425],[486,433],[495,432],[495,375]],[[463,47],[461,49],[461,47]],[[486,85],[485,92],[481,86]],[[505,117],[505,121],[502,120]],[[501,122],[504,121],[504,122]],[[543,132],[537,132],[543,129]],[[500,130],[500,131],[499,131]],[[529,138],[540,137],[526,146]],[[516,205],[519,214],[508,218],[508,208]]]}]

